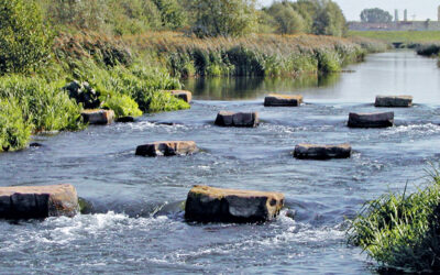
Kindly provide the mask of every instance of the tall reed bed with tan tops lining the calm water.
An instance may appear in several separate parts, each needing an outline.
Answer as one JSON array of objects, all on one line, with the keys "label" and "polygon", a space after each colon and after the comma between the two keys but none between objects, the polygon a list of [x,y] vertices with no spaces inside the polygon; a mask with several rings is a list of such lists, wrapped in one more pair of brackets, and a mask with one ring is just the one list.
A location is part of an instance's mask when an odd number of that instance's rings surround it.
[{"label": "tall reed bed with tan tops lining the calm water", "polygon": [[140,53],[155,53],[177,77],[283,76],[338,72],[365,54],[386,50],[366,38],[255,34],[197,38],[175,32],[123,36]]}]

